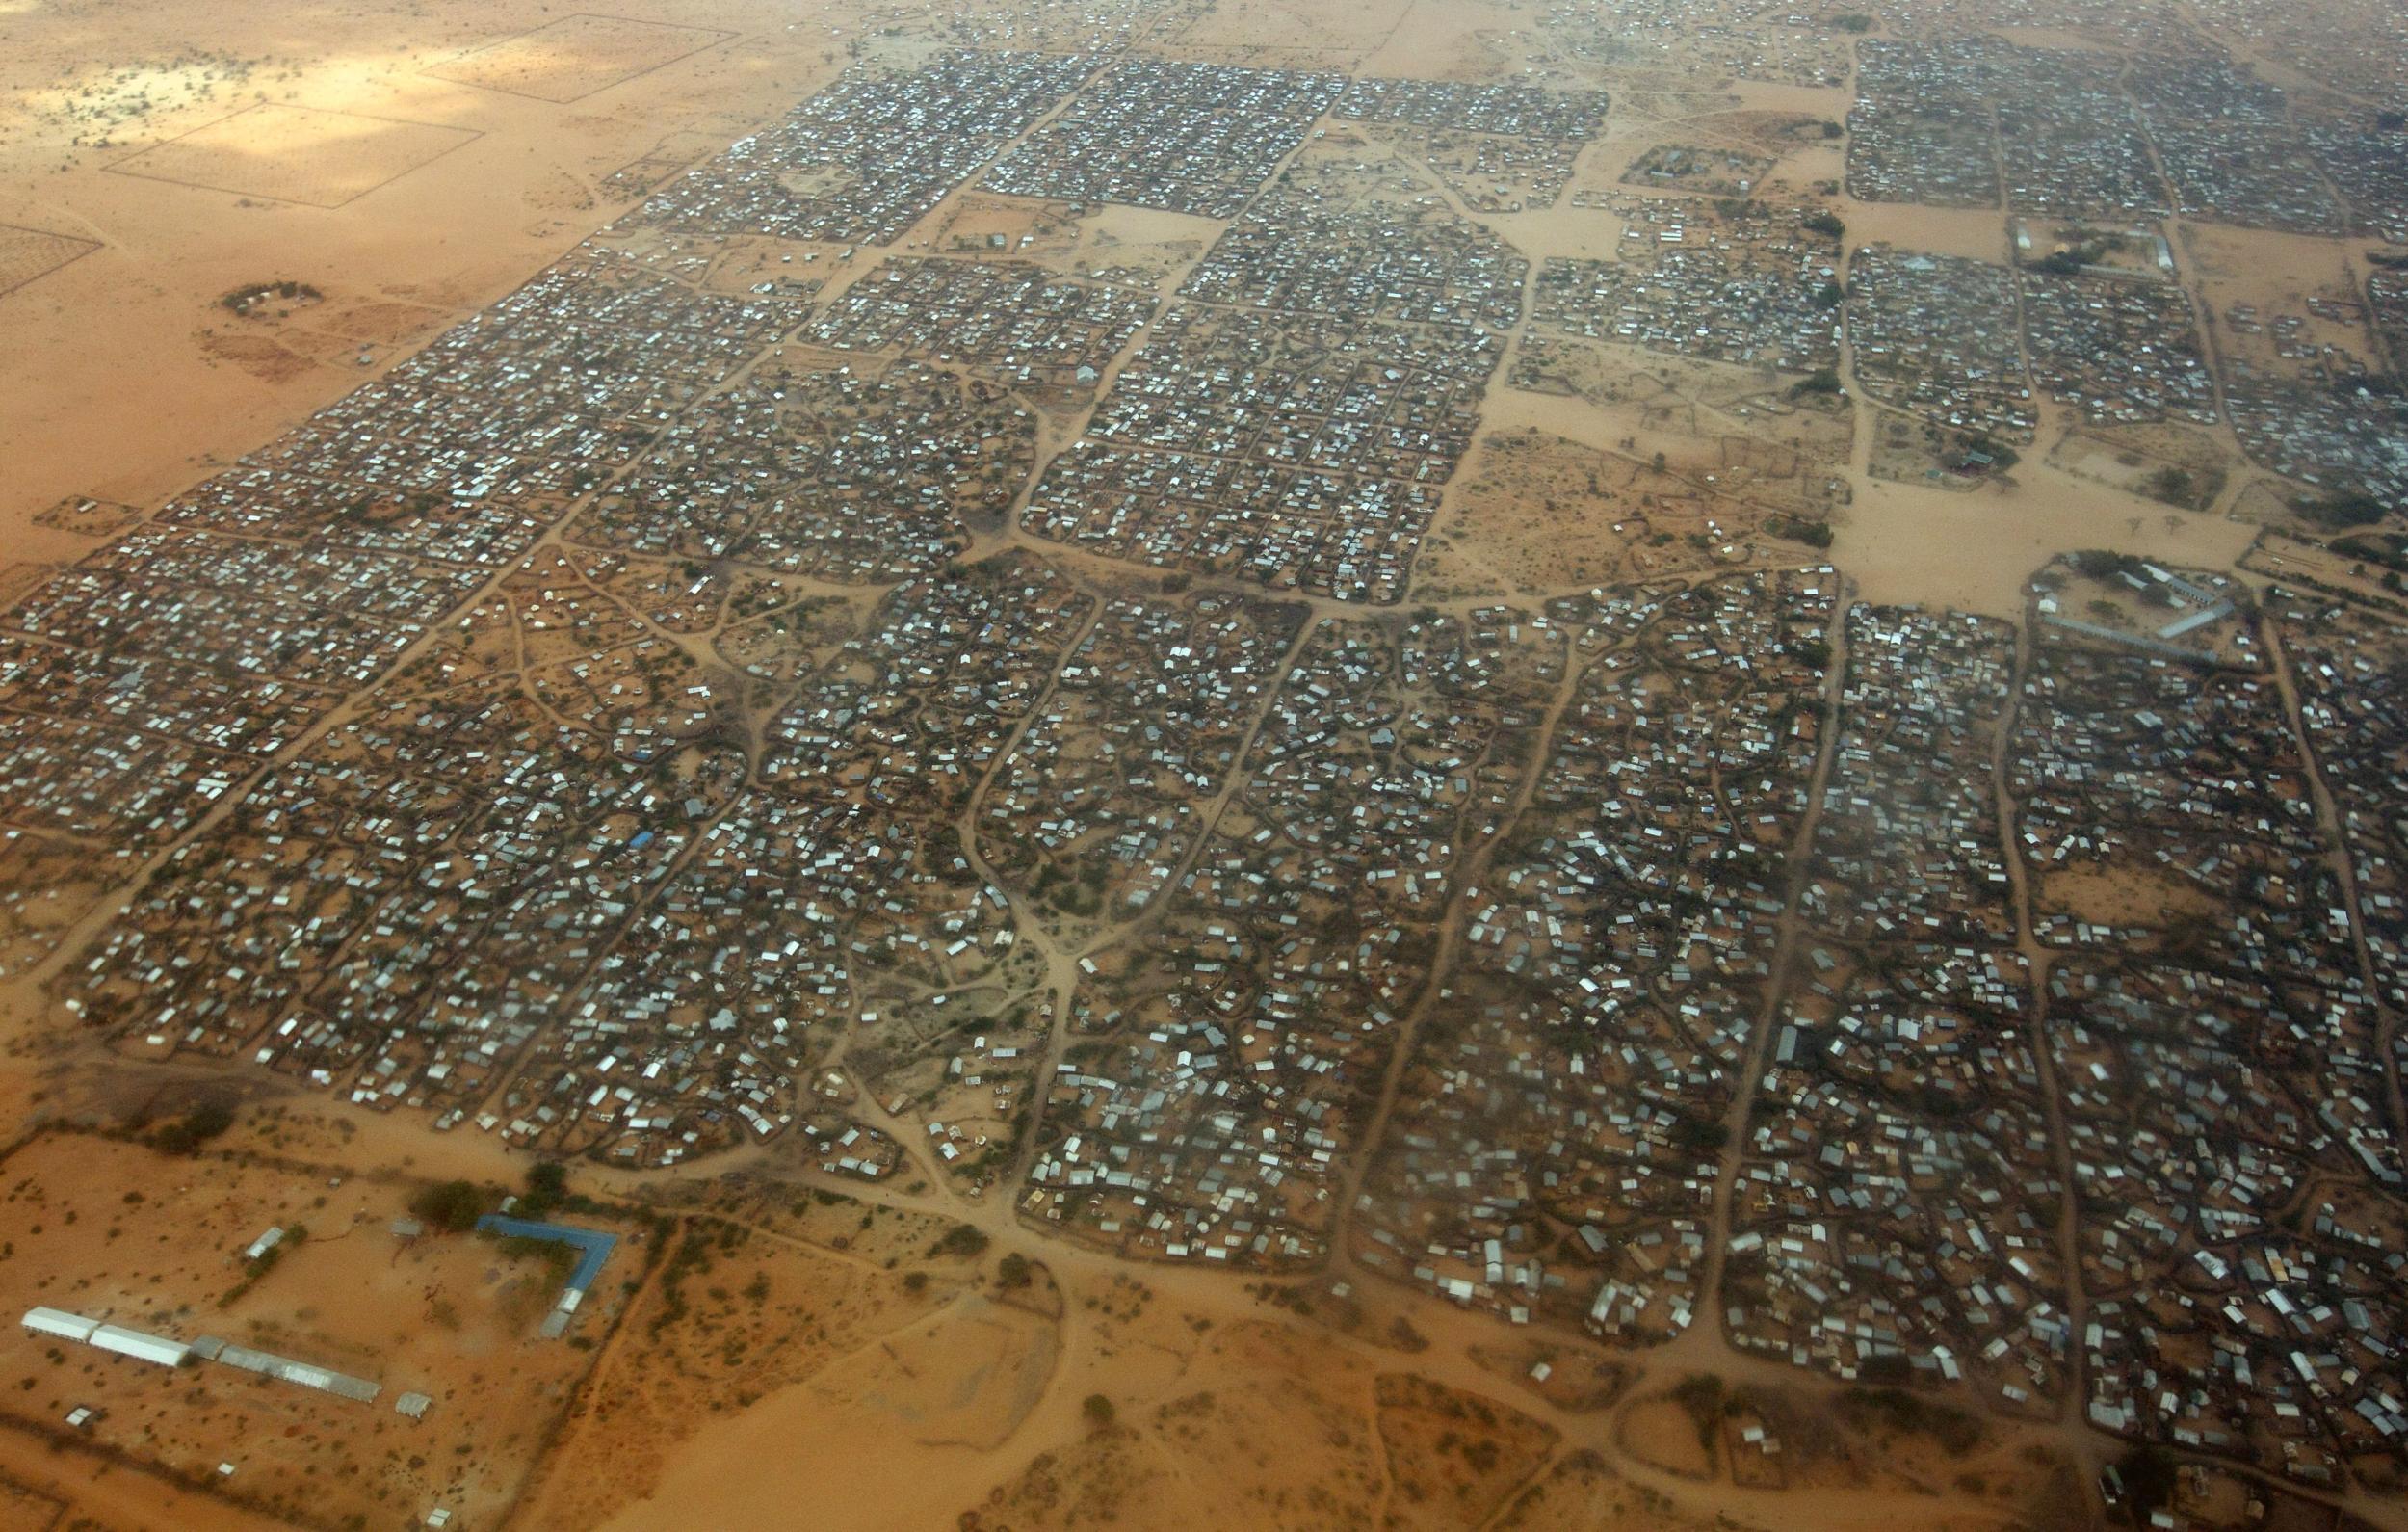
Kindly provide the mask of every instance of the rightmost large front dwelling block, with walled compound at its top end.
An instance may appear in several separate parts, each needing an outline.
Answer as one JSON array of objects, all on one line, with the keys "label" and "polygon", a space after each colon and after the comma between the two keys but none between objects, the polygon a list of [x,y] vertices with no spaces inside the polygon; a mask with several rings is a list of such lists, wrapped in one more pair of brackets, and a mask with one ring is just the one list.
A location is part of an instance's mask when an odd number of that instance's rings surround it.
[{"label": "rightmost large front dwelling block, with walled compound at its top end", "polygon": [[[2143,638],[2066,619],[2083,581],[2172,621]],[[2408,1453],[2396,1060],[2268,614],[2105,556],[2047,571],[2035,612],[2008,785],[2032,927],[2061,951],[2042,1036],[2088,1298],[2078,1404],[2105,1431],[2338,1486],[2353,1460]],[[2324,634],[2341,614],[2271,617]],[[2309,653],[2290,679],[2333,699],[2350,672]]]}]

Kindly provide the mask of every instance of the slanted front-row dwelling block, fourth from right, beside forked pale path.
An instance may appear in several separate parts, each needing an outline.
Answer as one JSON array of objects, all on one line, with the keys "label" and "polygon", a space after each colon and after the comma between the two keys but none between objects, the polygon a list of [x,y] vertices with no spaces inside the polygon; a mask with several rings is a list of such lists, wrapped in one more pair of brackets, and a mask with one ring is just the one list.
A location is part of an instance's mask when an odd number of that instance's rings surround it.
[{"label": "slanted front-row dwelling block, fourth from right, beside forked pale path", "polygon": [[1031,1214],[1165,1260],[1327,1250],[1462,858],[1510,812],[1563,665],[1563,626],[1512,607],[1298,636],[1156,915],[1081,959]]}]

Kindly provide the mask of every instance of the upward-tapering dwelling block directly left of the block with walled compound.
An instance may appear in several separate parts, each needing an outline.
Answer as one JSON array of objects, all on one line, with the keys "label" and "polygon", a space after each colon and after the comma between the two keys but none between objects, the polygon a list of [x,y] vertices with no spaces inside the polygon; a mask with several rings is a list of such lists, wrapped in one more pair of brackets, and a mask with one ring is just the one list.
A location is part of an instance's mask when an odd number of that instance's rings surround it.
[{"label": "upward-tapering dwelling block directly left of the block with walled compound", "polygon": [[2054,1412],[2071,1322],[1994,754],[2013,624],[1852,607],[1842,732],[1731,1214],[1734,1344]]}]

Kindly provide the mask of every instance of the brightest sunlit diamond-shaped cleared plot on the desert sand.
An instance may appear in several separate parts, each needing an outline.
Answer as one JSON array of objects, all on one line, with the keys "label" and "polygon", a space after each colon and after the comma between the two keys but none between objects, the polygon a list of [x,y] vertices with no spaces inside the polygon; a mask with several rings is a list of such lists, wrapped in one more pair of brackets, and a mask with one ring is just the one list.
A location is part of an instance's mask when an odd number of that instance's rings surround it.
[{"label": "brightest sunlit diamond-shaped cleared plot on the desert sand", "polygon": [[275,202],[342,207],[474,137],[470,128],[438,123],[250,106],[108,169]]}]

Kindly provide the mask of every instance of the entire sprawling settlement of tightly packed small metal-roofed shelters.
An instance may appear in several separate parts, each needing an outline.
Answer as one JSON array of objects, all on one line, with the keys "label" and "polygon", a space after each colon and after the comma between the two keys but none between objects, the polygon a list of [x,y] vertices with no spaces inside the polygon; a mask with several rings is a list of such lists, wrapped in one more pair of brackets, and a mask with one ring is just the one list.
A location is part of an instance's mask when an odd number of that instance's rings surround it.
[{"label": "entire sprawling settlement of tightly packed small metal-roofed shelters", "polygon": [[[1825,29],[1739,12],[1623,7],[1611,58],[1702,14],[1729,72],[1828,72]],[[2271,181],[2314,130],[2239,161],[2278,99],[2215,60],[1864,58],[1861,193],[2343,217]],[[58,995],[551,1154],[795,1135],[1009,1171],[1129,1255],[1341,1248],[2040,1414],[2081,1375],[2100,1428],[2307,1479],[2408,1453],[2386,624],[2119,559],[2020,629],[1832,568],[1411,605],[1527,318],[1804,373],[1845,320],[1871,393],[1967,436],[2028,441],[2035,385],[2213,419],[2172,284],[1871,246],[1842,294],[1813,212],[1609,193],[1625,258],[1524,316],[1505,241],[1344,164],[1522,173],[1604,111],[850,72],[0,617],[0,819],[147,865]],[[1228,229],[1170,299],[990,253],[696,282],[722,236],[896,243],[982,169]],[[2374,373],[2300,376],[2225,378],[2251,450],[2408,496]],[[1096,395],[1040,472],[1040,409]]]}]

